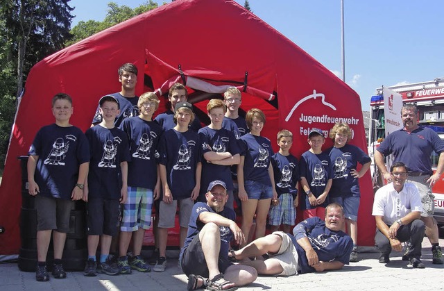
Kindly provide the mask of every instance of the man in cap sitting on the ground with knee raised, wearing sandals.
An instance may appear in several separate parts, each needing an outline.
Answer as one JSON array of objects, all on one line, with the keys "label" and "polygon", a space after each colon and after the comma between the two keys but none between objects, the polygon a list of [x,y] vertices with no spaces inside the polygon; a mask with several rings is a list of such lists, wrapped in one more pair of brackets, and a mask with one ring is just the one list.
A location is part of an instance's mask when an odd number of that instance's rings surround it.
[{"label": "man in cap sitting on the ground with knee raised, wearing sandals", "polygon": [[234,265],[228,260],[230,241],[245,241],[237,226],[234,210],[226,208],[227,187],[212,181],[205,194],[207,203],[194,204],[189,219],[187,239],[180,250],[179,262],[188,276],[188,290],[236,290],[257,278],[253,267]]}]

